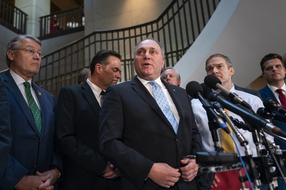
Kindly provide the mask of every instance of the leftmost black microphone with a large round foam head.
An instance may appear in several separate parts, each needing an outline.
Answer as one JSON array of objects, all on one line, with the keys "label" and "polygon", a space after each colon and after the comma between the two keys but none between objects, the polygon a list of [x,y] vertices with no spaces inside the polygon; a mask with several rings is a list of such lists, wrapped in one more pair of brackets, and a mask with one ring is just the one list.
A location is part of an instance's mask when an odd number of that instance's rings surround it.
[{"label": "leftmost black microphone with a large round foam head", "polygon": [[203,108],[211,115],[211,117],[215,120],[216,124],[221,127],[224,131],[226,131],[228,134],[230,133],[229,128],[227,124],[224,122],[223,119],[221,119],[217,113],[213,110],[212,104],[203,97],[202,93],[202,87],[200,83],[197,81],[191,81],[186,85],[186,91],[188,95],[190,95],[193,98],[199,99],[202,103]]}]

